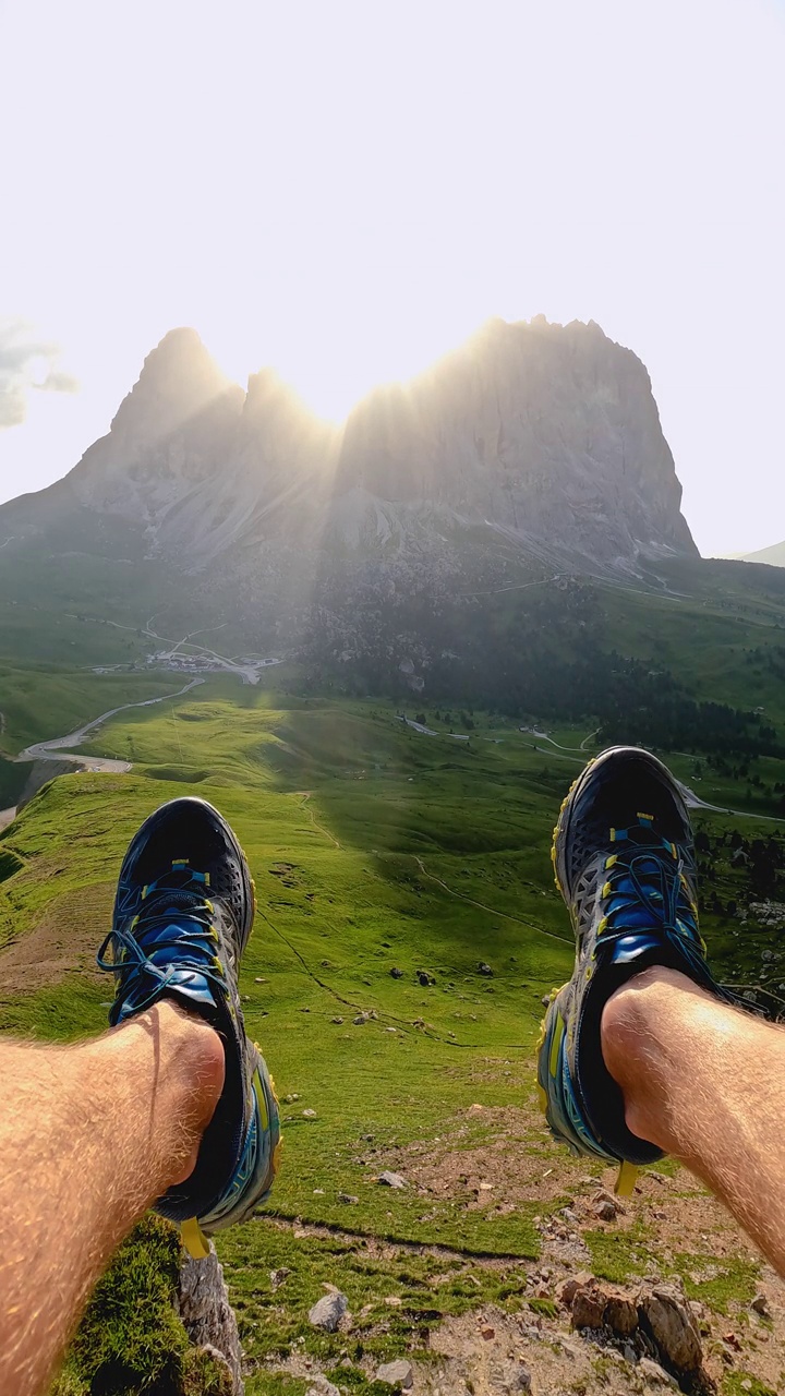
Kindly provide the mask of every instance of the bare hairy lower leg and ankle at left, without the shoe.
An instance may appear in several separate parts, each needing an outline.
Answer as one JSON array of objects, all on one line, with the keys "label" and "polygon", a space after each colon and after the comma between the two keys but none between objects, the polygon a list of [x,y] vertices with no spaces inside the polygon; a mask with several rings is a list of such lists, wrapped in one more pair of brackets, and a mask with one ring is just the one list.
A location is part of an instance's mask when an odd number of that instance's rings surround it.
[{"label": "bare hairy lower leg and ankle at left, without the shoe", "polygon": [[172,1002],[94,1041],[0,1040],[0,1390],[39,1396],[106,1263],[193,1171],[223,1085]]}]

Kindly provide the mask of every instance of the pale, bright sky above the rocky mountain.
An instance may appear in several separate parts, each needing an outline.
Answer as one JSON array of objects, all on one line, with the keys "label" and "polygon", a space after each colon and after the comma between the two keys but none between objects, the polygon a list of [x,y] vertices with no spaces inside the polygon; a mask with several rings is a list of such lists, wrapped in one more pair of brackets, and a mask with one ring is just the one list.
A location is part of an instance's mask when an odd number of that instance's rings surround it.
[{"label": "pale, bright sky above the rocky mountain", "polygon": [[785,539],[785,0],[0,0],[0,501],[194,325],[341,419],[490,315],[647,364],[704,554]]}]

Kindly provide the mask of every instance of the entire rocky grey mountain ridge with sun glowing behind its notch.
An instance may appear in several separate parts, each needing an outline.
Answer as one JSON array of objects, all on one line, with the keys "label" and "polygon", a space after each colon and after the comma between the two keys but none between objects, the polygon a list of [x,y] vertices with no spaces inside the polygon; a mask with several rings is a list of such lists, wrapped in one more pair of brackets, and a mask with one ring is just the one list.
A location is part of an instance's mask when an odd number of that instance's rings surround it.
[{"label": "entire rocky grey mountain ridge with sun glowing behind its notch", "polygon": [[110,518],[144,553],[226,581],[307,560],[461,571],[467,550],[634,568],[696,554],[643,363],[602,329],[490,321],[338,429],[270,370],[247,392],[193,329],[147,357],[108,436],[49,490],[0,508],[0,535],[45,542]]}]

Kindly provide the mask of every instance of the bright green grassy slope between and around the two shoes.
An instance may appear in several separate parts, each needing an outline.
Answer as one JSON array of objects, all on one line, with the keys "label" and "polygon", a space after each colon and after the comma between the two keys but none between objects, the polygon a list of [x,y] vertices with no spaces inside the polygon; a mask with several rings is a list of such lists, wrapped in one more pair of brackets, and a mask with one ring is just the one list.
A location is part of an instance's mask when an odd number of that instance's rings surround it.
[{"label": "bright green grassy slope between and around the two shoes", "polygon": [[[542,1202],[506,1209],[455,1189],[425,1195],[374,1182],[384,1167],[405,1168],[418,1148],[434,1156],[490,1148],[499,1127],[472,1115],[472,1104],[518,1111],[510,1148],[536,1159],[549,1148],[531,1111],[534,1044],[542,994],[568,976],[573,958],[549,843],[585,754],[541,751],[513,723],[475,719],[471,741],[458,743],[413,733],[387,704],[288,701],[214,680],[110,722],[87,750],[133,759],[133,773],[61,778],[0,839],[0,946],[27,937],[31,951],[15,973],[0,958],[0,1026],[59,1040],[103,1026],[112,986],[92,958],[141,819],[162,800],[200,794],[243,842],[260,902],[244,1012],[285,1120],[270,1209],[218,1242],[253,1368],[250,1396],[303,1392],[270,1369],[303,1344],[317,1358],[346,1356],[356,1371],[342,1369],[344,1385],[370,1392],[360,1360],[425,1342],[440,1316],[478,1297],[522,1302],[515,1268],[538,1255],[532,1213],[548,1212]],[[581,740],[552,736],[570,748]],[[705,930],[722,951],[721,921],[708,919]],[[74,965],[64,976],[63,946]],[[376,1016],[355,1026],[360,1009]],[[154,1240],[166,1252],[159,1233]],[[609,1277],[645,1269],[652,1244],[643,1233],[587,1241]],[[409,1252],[413,1242],[437,1249]],[[182,1329],[156,1316],[168,1298],[154,1276],[168,1262],[149,1262],[145,1277],[144,1245],[137,1237],[108,1276],[96,1304],[109,1295],[113,1316],[91,1308],[57,1396],[135,1389],[122,1378],[85,1383],[96,1364],[110,1374],[115,1349],[135,1350],[123,1294],[137,1255],[133,1284],[156,1295],[140,1351],[152,1344],[149,1371],[179,1361]],[[499,1268],[482,1256],[500,1258]],[[277,1289],[270,1272],[281,1268],[291,1273]],[[349,1344],[307,1326],[323,1283],[339,1283],[362,1315]],[[728,1276],[733,1293],[749,1283]],[[196,1381],[172,1367],[161,1390],[212,1390],[212,1376]]]}]

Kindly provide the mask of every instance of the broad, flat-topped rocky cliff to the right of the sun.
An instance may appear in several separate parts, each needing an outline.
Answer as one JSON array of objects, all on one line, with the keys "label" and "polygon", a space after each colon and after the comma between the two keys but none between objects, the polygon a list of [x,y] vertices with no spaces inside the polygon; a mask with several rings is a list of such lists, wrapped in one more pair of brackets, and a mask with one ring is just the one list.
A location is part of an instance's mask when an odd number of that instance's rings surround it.
[{"label": "broad, flat-topped rocky cliff to the right of the sun", "polygon": [[372,394],[341,441],[337,497],[629,563],[694,553],[650,377],[592,324],[492,321],[406,387]]}]

